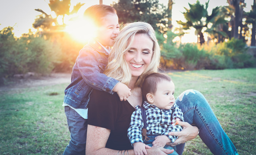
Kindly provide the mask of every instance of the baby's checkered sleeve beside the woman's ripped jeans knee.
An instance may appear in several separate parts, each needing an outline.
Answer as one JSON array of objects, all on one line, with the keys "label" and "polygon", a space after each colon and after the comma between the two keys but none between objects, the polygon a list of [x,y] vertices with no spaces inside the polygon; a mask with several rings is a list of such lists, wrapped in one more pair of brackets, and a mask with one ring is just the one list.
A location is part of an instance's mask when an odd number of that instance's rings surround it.
[{"label": "baby's checkered sleeve beside the woman's ripped jeans knee", "polygon": [[171,136],[171,135],[168,135],[168,133],[182,131],[182,126],[175,125],[177,120],[184,121],[184,118],[183,118],[183,113],[181,109],[176,104],[174,104],[174,111],[172,113],[172,120],[171,120],[172,125],[170,125],[169,128],[167,128],[166,131],[162,133],[162,135],[169,137],[169,139],[171,140],[171,143],[173,143],[178,138],[178,136]]}]

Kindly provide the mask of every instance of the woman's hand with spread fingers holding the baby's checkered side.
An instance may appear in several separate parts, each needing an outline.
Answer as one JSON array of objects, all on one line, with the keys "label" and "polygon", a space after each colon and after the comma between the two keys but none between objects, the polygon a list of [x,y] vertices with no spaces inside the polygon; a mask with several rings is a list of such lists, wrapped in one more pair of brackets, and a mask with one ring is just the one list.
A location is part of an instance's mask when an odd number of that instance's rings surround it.
[{"label": "woman's hand with spread fingers holding the baby's checkered side", "polygon": [[198,128],[190,125],[187,122],[179,121],[178,125],[183,126],[183,130],[178,132],[168,133],[168,135],[171,135],[171,136],[178,136],[178,139],[176,139],[174,143],[167,143],[167,145],[169,146],[176,146],[178,144],[185,143],[189,140],[194,139],[198,134]]}]

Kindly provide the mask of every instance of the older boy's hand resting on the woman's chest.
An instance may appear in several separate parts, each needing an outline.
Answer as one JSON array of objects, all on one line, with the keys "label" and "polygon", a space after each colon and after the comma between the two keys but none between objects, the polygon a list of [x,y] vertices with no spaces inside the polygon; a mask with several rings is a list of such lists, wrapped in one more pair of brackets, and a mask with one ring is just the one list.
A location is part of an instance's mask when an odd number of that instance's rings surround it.
[{"label": "older boy's hand resting on the woman's chest", "polygon": [[113,92],[116,92],[120,97],[120,101],[126,101],[126,99],[132,95],[131,89],[128,88],[127,85],[119,82],[113,88]]}]

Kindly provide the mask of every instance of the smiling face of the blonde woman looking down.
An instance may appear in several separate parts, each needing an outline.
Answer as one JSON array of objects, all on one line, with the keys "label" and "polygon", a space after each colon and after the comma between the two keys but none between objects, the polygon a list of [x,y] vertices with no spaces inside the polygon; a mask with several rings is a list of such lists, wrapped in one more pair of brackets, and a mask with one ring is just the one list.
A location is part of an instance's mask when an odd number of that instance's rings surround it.
[{"label": "smiling face of the blonde woman looking down", "polygon": [[132,77],[138,78],[147,69],[152,55],[153,41],[146,34],[136,34],[131,48],[124,56]]}]

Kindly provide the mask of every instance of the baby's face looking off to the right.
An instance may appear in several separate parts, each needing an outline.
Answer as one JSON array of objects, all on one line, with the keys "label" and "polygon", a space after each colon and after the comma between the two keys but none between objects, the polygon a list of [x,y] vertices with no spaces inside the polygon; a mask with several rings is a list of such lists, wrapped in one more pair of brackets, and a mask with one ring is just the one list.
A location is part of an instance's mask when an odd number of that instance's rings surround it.
[{"label": "baby's face looking off to the right", "polygon": [[157,91],[153,96],[153,105],[160,109],[171,109],[175,103],[175,98],[173,96],[175,91],[175,86],[172,81],[162,80],[157,85]]}]

